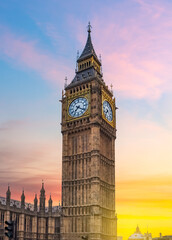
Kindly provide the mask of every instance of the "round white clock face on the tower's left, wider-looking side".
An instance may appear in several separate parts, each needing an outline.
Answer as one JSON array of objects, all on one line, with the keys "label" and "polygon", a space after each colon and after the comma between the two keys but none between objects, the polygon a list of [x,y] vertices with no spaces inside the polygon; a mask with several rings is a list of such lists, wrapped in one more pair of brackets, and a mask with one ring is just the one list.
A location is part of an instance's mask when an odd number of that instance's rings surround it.
[{"label": "round white clock face on the tower's left, wider-looking side", "polygon": [[69,115],[71,117],[80,117],[88,109],[88,100],[84,97],[76,98],[69,105]]}]

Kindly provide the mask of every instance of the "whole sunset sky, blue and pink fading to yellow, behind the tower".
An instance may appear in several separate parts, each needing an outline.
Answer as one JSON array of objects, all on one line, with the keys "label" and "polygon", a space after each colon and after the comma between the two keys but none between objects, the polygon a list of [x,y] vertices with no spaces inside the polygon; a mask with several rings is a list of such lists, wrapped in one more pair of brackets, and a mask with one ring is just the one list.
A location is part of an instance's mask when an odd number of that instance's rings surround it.
[{"label": "whole sunset sky, blue and pink fading to yellow, behind the tower", "polygon": [[0,0],[0,196],[61,196],[61,91],[87,39],[117,111],[118,235],[172,234],[172,1]]}]

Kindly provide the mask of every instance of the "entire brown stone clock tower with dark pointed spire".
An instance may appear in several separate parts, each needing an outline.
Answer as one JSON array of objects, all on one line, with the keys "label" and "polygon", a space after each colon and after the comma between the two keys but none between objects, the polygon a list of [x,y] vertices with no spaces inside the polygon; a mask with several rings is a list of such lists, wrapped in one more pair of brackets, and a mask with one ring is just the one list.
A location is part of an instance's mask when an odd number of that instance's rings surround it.
[{"label": "entire brown stone clock tower with dark pointed spire", "polygon": [[115,240],[115,98],[91,41],[62,94],[63,240]]}]

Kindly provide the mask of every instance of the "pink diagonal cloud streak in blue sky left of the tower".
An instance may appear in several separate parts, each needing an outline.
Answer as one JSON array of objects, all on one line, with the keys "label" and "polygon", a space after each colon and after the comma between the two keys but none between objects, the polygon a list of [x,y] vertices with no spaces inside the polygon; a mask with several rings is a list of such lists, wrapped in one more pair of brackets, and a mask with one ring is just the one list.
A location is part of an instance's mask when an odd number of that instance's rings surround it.
[{"label": "pink diagonal cloud streak in blue sky left of the tower", "polygon": [[64,83],[66,73],[71,69],[65,63],[58,61],[46,51],[38,50],[37,42],[26,41],[23,37],[15,36],[1,27],[0,52],[15,64],[37,72],[43,79],[55,84]]}]

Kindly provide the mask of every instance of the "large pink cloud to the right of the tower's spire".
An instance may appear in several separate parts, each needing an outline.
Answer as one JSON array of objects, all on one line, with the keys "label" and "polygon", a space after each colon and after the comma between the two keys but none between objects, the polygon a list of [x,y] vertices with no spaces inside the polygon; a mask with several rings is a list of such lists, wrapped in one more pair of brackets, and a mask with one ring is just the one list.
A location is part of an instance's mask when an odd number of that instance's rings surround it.
[{"label": "large pink cloud to the right of the tower's spire", "polygon": [[[172,91],[172,17],[167,4],[134,2],[138,4],[131,12],[105,6],[94,15],[92,41],[97,55],[102,55],[104,80],[114,85],[115,92],[126,98],[157,100]],[[78,25],[73,17],[71,24],[78,26],[77,37],[84,47],[85,23]]]}]

